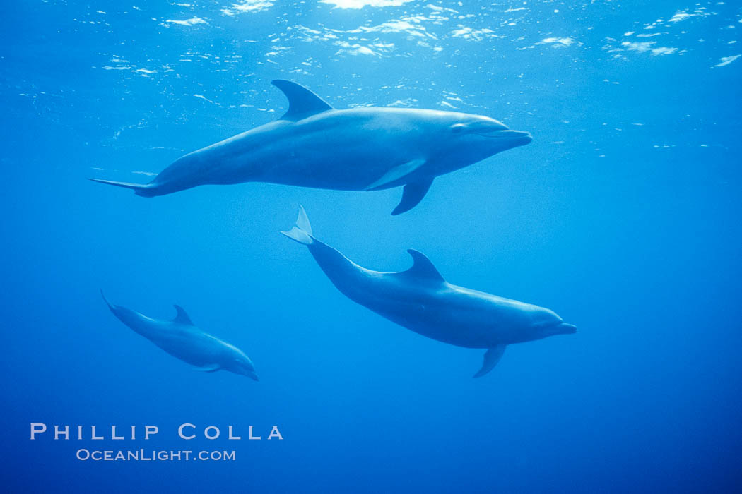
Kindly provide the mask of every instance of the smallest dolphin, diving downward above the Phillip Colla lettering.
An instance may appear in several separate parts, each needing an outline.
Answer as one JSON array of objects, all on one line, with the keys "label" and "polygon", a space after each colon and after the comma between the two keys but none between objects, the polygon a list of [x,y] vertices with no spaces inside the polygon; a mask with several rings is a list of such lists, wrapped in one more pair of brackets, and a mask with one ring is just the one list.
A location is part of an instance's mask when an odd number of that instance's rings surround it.
[{"label": "smallest dolphin, diving downward above the Phillip Colla lettering", "polygon": [[242,350],[195,327],[183,307],[174,306],[177,310],[175,318],[172,321],[163,321],[111,304],[103,292],[100,294],[114,316],[122,323],[171,356],[180,358],[207,373],[229,370],[231,373],[246,375],[258,381],[252,361]]}]

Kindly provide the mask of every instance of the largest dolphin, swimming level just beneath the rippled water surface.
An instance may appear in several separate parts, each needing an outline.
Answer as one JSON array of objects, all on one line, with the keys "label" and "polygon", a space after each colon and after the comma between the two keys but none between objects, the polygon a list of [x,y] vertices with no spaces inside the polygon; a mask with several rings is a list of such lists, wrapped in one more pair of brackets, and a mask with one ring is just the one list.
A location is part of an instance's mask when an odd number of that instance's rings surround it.
[{"label": "largest dolphin, swimming level just beneath the rippled water surface", "polygon": [[531,142],[486,116],[413,108],[335,110],[306,87],[272,81],[289,99],[278,120],[188,153],[149,184],[92,181],[163,196],[206,184],[269,182],[334,190],[404,186],[393,215],[422,200],[433,178]]}]

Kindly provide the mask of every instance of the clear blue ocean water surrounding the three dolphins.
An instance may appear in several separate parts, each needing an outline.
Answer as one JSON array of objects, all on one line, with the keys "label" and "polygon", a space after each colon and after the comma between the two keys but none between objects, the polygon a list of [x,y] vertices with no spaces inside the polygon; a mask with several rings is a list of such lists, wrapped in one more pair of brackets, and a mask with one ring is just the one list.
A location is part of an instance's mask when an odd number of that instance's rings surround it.
[{"label": "clear blue ocean water surrounding the three dolphins", "polygon": [[[5,2],[0,7],[3,490],[700,493],[742,487],[738,1]],[[525,147],[399,190],[270,184],[141,198],[184,153],[334,107],[492,116]],[[344,298],[278,234],[303,204],[365,267],[448,281],[580,332],[482,351]],[[198,373],[111,316],[188,310],[260,382]],[[157,425],[30,441],[31,423]],[[241,441],[177,437],[233,425]],[[263,440],[246,439],[248,427]],[[277,425],[283,441],[267,441]],[[90,449],[235,461],[79,461]]]}]

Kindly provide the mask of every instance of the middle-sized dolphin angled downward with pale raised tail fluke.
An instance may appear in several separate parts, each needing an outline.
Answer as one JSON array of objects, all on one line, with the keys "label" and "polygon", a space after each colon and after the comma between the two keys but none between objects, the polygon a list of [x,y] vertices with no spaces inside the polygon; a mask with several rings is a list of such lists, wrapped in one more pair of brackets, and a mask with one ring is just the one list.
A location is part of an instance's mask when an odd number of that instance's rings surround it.
[{"label": "middle-sized dolphin angled downward with pale raised tail fluke", "polygon": [[409,330],[444,343],[486,348],[474,377],[495,367],[508,344],[577,332],[553,311],[447,283],[433,263],[408,250],[413,267],[381,273],[358,266],[318,241],[303,207],[295,227],[283,235],[309,247],[332,284],[352,301]]}]

